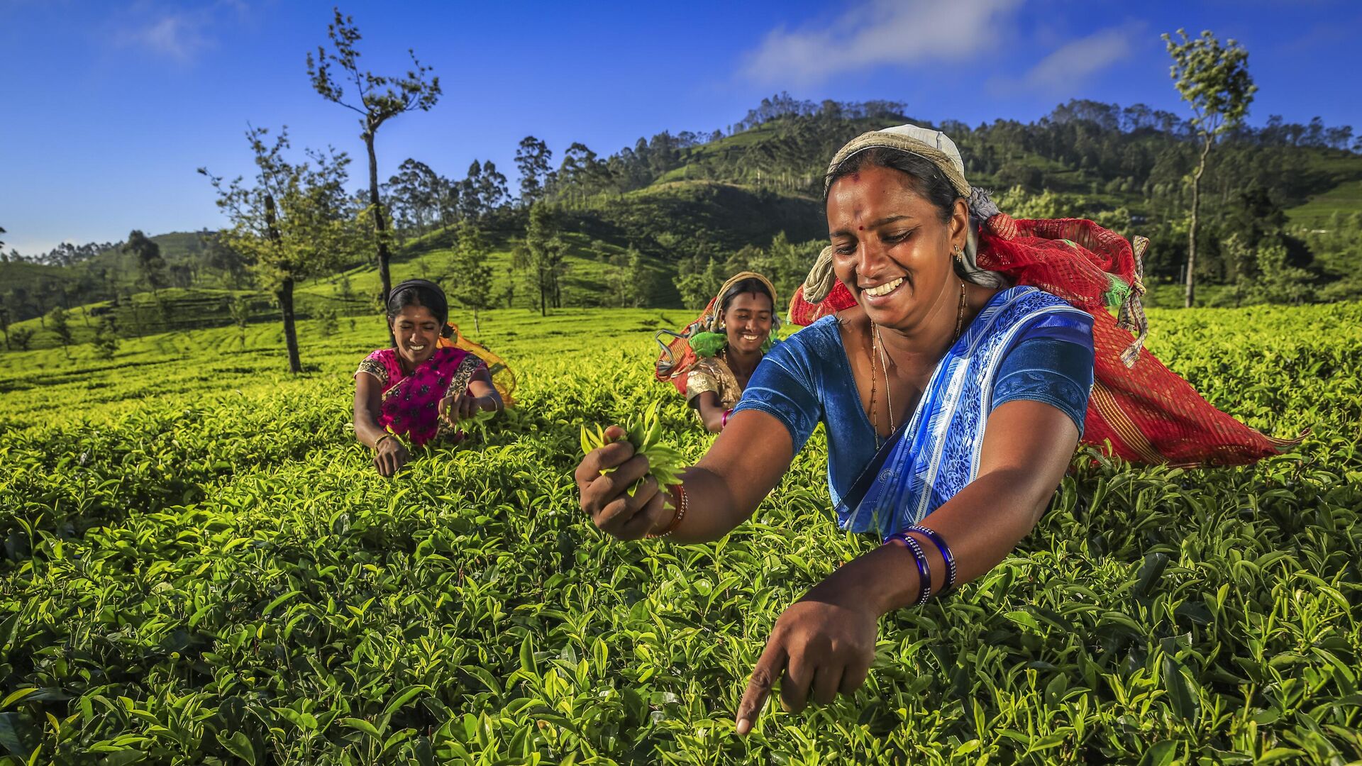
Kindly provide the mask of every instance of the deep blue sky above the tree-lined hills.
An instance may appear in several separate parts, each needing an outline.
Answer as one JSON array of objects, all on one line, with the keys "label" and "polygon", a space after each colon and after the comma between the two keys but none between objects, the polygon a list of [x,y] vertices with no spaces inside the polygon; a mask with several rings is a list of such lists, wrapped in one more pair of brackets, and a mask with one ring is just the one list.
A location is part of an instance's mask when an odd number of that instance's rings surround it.
[{"label": "deep blue sky above the tree-lined hills", "polygon": [[[576,5],[576,7],[575,7]],[[0,0],[0,236],[23,254],[217,228],[199,166],[249,170],[247,124],[355,158],[354,116],[323,101],[304,57],[331,3]],[[1032,120],[1069,98],[1185,113],[1163,31],[1214,30],[1249,50],[1249,121],[1321,116],[1362,129],[1355,0],[750,0],[734,3],[360,3],[361,61],[406,50],[444,87],[379,132],[380,174],[407,157],[463,177],[512,176],[515,146],[610,154],[663,129],[712,131],[761,97],[904,101],[923,120]]]}]

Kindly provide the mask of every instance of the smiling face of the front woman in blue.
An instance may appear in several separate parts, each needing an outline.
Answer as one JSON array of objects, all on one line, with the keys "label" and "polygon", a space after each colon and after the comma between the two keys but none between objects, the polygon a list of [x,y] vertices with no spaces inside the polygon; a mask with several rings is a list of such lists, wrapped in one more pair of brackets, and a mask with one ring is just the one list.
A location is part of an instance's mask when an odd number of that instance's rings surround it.
[{"label": "smiling face of the front woman in blue", "polygon": [[900,170],[865,165],[828,192],[832,267],[884,327],[910,330],[960,294],[951,254],[964,247],[968,213],[956,200],[948,221]]}]

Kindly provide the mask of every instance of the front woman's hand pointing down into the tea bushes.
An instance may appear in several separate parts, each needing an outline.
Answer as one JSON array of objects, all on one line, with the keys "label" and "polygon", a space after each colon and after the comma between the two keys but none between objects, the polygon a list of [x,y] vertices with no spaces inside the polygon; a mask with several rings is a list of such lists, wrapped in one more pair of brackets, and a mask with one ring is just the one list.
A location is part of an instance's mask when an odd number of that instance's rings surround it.
[{"label": "front woman's hand pointing down into the tea bushes", "polygon": [[865,600],[821,596],[820,590],[810,590],[775,622],[738,703],[740,735],[756,725],[782,673],[780,706],[790,713],[804,710],[810,691],[813,702],[829,705],[839,691],[850,695],[865,683],[880,615]]}]

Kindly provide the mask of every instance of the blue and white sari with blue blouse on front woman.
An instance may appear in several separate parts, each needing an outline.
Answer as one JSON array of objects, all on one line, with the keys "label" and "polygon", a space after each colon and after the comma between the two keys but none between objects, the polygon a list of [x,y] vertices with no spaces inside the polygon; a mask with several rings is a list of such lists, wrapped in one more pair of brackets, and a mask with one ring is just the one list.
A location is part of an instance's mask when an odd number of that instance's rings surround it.
[{"label": "blue and white sari with blue blouse on front woman", "polygon": [[913,417],[878,450],[836,318],[814,322],[767,354],[735,412],[775,416],[795,451],[823,421],[838,525],[888,537],[974,481],[994,408],[1042,401],[1065,412],[1081,433],[1091,384],[1092,318],[1017,286],[989,300],[937,363]]}]

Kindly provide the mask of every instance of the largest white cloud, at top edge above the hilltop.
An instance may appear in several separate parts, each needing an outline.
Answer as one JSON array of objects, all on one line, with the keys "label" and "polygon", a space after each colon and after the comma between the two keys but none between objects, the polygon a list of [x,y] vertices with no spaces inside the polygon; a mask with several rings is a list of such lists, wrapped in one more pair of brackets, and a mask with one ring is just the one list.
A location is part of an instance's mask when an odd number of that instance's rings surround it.
[{"label": "largest white cloud, at top edge above the hilltop", "polygon": [[814,85],[877,65],[959,61],[994,45],[1020,0],[866,0],[819,29],[767,33],[742,74]]}]

